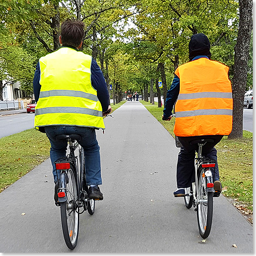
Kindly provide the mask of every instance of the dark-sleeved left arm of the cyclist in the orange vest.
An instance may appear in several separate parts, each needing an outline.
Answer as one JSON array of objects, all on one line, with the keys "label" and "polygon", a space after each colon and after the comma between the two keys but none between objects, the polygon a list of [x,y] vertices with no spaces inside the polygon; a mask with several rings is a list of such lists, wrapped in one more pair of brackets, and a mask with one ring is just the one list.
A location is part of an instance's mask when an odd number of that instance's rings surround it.
[{"label": "dark-sleeved left arm of the cyclist in the orange vest", "polygon": [[168,119],[172,115],[173,105],[180,92],[180,78],[174,75],[172,85],[167,91],[166,102],[164,103],[163,117]]}]

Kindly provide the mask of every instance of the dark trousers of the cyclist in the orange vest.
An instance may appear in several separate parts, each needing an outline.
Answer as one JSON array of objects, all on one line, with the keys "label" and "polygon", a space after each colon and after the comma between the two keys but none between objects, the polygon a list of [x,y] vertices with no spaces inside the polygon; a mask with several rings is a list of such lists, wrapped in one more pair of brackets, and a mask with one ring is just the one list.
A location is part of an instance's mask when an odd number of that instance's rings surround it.
[{"label": "dark trousers of the cyclist in the orange vest", "polygon": [[191,181],[195,180],[194,177],[194,157],[196,155],[196,151],[198,152],[198,145],[191,145],[190,142],[194,139],[200,138],[211,138],[214,139],[214,142],[207,142],[203,146],[202,155],[206,157],[211,157],[216,161],[215,164],[215,172],[214,172],[214,181],[219,180],[220,176],[218,173],[218,163],[217,163],[217,150],[214,146],[221,141],[223,135],[209,135],[209,136],[191,136],[191,137],[179,137],[179,141],[182,146],[180,148],[180,153],[178,155],[178,163],[177,163],[177,187],[185,188],[190,187]]}]

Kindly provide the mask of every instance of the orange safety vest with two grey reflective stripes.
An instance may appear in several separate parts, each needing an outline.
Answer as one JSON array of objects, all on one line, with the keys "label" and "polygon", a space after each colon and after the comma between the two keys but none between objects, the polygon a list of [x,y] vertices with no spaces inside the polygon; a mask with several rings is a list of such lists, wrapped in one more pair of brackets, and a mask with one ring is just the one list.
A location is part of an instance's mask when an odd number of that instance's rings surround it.
[{"label": "orange safety vest with two grey reflective stripes", "polygon": [[176,136],[229,135],[233,121],[233,99],[229,68],[199,58],[175,70],[180,93],[175,105]]}]

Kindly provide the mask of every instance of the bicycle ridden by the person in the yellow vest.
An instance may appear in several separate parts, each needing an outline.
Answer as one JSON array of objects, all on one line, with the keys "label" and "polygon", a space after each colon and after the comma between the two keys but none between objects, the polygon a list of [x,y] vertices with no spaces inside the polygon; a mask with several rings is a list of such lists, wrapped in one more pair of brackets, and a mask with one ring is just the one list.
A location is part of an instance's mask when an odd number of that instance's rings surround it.
[{"label": "bicycle ridden by the person in the yellow vest", "polygon": [[[106,115],[113,117],[113,115]],[[80,215],[88,211],[90,215],[95,211],[95,200],[88,198],[89,186],[86,185],[86,170],[84,165],[84,150],[78,144],[82,138],[77,134],[57,135],[59,141],[67,141],[69,154],[61,157],[55,163],[59,170],[58,202],[60,218],[66,246],[74,249],[78,241]],[[75,151],[78,150],[78,155]],[[58,172],[57,172],[58,174]],[[80,209],[83,208],[81,211]]]}]

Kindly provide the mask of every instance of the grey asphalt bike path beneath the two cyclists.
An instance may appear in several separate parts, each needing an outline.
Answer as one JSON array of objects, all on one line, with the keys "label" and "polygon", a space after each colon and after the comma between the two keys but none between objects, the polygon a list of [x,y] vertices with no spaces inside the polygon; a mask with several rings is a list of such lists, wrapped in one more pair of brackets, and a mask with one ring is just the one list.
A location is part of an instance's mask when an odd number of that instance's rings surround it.
[{"label": "grey asphalt bike path beneath the two cyclists", "polygon": [[[126,102],[113,115],[105,118],[105,134],[97,131],[104,199],[94,215],[80,215],[72,252],[253,252],[252,225],[223,195],[214,198],[208,239],[200,237],[194,208],[173,197],[179,149],[141,102]],[[0,193],[0,252],[71,252],[53,188],[48,159]]]}]

